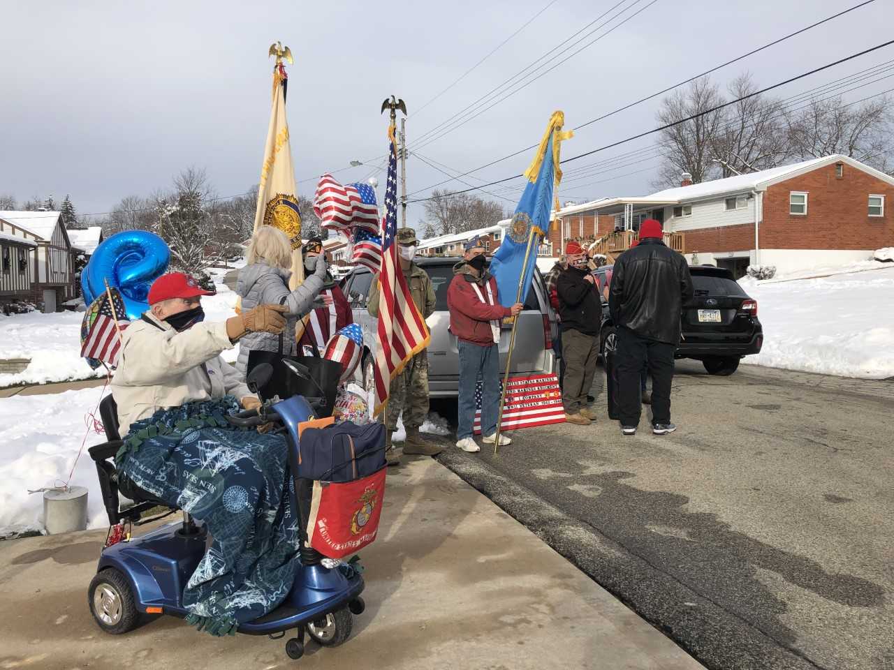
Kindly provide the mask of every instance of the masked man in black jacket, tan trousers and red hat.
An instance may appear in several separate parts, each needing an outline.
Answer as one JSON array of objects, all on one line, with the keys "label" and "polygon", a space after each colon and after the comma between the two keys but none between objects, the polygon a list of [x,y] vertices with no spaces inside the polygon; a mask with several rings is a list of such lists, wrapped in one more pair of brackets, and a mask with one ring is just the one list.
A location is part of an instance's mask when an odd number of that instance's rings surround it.
[{"label": "masked man in black jacket, tan trousers and red hat", "polygon": [[561,272],[556,282],[565,359],[562,405],[565,406],[565,421],[586,426],[596,418],[587,406],[587,395],[593,386],[599,357],[603,307],[583,247],[578,242],[569,242],[565,257],[568,269]]}]

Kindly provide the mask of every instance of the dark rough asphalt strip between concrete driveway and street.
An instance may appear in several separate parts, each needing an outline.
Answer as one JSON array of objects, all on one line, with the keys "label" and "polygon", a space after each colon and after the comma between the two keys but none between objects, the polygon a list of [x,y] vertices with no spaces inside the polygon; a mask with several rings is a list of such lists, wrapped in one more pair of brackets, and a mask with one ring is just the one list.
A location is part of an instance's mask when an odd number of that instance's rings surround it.
[{"label": "dark rough asphalt strip between concrete driveway and street", "polygon": [[704,666],[712,670],[822,669],[797,649],[780,645],[754,625],[630,553],[592,525],[538,498],[475,456],[451,445],[436,460]]}]

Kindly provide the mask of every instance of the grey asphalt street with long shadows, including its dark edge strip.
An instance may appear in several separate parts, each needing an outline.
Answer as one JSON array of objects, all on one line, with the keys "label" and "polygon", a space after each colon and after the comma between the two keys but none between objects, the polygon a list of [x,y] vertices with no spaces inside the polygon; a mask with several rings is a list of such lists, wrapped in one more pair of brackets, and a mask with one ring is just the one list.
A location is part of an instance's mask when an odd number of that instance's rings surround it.
[{"label": "grey asphalt street with long shadows, including its dark edge strip", "polygon": [[605,418],[440,458],[705,666],[891,670],[892,415],[894,381],[684,361],[672,435]]}]

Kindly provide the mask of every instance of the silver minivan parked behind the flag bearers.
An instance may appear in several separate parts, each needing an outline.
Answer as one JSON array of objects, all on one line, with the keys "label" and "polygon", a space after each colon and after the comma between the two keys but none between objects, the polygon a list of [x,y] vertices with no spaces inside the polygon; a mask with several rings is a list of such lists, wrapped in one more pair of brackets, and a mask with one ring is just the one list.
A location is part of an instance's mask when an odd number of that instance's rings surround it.
[{"label": "silver minivan parked behind the flag bearers", "polygon": [[[432,398],[456,398],[460,380],[460,359],[456,337],[449,331],[450,314],[447,311],[447,287],[453,279],[453,265],[457,257],[417,258],[419,267],[428,272],[434,287],[434,314],[428,317],[428,330],[432,339],[428,345],[428,390]],[[354,314],[354,322],[363,329],[363,358],[360,370],[367,389],[373,384],[378,319],[367,312],[367,296],[373,281],[373,273],[366,267],[358,267],[342,281],[342,291],[348,297]],[[506,369],[511,324],[503,323],[500,333],[500,369]],[[546,286],[539,270],[534,273],[531,290],[527,292],[525,309],[519,314],[519,326],[515,334],[512,352],[512,374],[552,373],[556,369],[552,353],[552,339],[556,336],[556,314],[546,295]]]}]

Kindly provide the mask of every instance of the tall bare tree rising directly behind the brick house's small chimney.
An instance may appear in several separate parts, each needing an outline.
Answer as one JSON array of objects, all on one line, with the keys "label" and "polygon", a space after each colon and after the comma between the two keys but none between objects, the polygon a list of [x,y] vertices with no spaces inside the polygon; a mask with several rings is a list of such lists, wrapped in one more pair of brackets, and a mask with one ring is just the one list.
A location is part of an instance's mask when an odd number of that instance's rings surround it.
[{"label": "tall bare tree rising directly behind the brick house's small chimney", "polygon": [[[676,125],[661,131],[660,141],[666,149],[666,159],[659,170],[656,186],[679,186],[682,172],[691,174],[696,183],[711,179],[711,172],[715,170],[713,142],[721,129],[723,113],[722,110],[709,110],[722,103],[720,89],[707,77],[664,98],[657,120],[662,126]],[[690,119],[692,116],[696,118]]]}]

